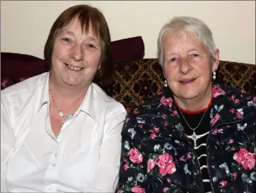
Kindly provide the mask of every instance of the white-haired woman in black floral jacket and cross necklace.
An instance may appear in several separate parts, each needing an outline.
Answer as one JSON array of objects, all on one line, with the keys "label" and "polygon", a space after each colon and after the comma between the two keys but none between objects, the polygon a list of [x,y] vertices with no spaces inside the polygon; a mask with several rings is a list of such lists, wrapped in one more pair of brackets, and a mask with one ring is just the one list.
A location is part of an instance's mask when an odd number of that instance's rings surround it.
[{"label": "white-haired woman in black floral jacket and cross necklace", "polygon": [[255,192],[256,98],[212,81],[210,29],[174,17],[158,50],[164,89],[127,115],[117,192]]}]

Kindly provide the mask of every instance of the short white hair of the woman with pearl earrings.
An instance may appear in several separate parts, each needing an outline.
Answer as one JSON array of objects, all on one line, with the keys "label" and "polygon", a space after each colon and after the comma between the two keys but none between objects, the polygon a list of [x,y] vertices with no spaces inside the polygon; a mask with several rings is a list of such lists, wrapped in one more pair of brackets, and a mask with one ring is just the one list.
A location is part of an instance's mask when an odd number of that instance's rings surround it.
[{"label": "short white hair of the woman with pearl earrings", "polygon": [[164,24],[157,39],[158,59],[159,64],[163,66],[163,46],[162,37],[167,31],[192,31],[199,41],[205,44],[212,54],[212,58],[215,59],[215,42],[212,39],[212,31],[209,27],[200,19],[191,16],[175,16],[167,24]]}]

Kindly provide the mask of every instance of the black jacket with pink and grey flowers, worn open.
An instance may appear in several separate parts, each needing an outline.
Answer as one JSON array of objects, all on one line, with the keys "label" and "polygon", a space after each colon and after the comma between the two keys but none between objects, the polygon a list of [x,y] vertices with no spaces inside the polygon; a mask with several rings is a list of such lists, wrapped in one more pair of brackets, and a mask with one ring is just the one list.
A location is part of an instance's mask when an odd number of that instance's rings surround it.
[{"label": "black jacket with pink and grey flowers, worn open", "polygon": [[[212,192],[255,192],[251,94],[212,85],[207,169]],[[204,192],[200,164],[168,88],[127,115],[117,192]]]}]

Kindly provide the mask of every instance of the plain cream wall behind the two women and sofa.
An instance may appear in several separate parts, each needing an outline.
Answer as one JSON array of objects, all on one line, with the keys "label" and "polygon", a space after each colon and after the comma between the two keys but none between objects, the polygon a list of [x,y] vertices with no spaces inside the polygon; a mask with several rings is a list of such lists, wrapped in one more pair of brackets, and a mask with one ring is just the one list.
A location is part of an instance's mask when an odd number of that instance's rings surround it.
[{"label": "plain cream wall behind the two women and sofa", "polygon": [[157,56],[157,35],[172,16],[196,16],[212,29],[220,59],[255,64],[255,1],[1,1],[1,51],[43,58],[57,16],[75,4],[99,8],[112,40],[142,36],[145,58]]}]

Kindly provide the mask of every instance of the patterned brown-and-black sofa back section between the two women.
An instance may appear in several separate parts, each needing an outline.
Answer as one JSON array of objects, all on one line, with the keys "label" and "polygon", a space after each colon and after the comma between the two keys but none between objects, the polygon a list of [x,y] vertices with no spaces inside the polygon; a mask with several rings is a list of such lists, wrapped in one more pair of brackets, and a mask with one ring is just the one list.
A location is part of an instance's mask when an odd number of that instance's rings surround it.
[{"label": "patterned brown-and-black sofa back section between the two women", "polygon": [[164,85],[162,69],[156,59],[138,59],[115,67],[114,83],[102,89],[121,102],[127,112],[157,94]]}]

